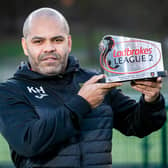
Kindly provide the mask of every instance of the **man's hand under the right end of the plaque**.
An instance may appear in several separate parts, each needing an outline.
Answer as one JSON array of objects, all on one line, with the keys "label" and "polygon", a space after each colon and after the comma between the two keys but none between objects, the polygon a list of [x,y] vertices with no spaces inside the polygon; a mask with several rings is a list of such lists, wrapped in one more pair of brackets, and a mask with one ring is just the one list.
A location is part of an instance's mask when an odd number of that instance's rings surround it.
[{"label": "man's hand under the right end of the plaque", "polygon": [[132,88],[143,93],[146,102],[154,102],[162,88],[162,78],[158,77],[156,81],[135,80],[131,83]]}]

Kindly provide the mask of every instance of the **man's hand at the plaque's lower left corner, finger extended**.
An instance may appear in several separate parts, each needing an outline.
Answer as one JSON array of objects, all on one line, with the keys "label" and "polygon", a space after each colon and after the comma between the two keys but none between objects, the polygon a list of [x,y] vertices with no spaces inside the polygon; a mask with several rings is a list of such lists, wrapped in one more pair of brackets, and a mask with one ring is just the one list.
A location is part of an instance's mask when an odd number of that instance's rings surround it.
[{"label": "man's hand at the plaque's lower left corner, finger extended", "polygon": [[97,107],[103,102],[108,91],[122,85],[122,83],[98,83],[104,77],[104,75],[93,76],[83,84],[78,92],[78,95],[87,100],[92,108]]}]

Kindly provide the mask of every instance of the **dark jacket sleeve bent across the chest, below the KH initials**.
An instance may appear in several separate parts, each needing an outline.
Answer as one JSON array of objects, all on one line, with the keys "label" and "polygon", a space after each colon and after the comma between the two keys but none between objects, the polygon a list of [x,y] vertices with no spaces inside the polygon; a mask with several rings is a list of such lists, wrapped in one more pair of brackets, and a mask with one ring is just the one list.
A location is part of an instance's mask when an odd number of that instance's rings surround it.
[{"label": "dark jacket sleeve bent across the chest, below the KH initials", "polygon": [[47,117],[40,118],[35,110],[18,95],[0,89],[0,132],[10,147],[25,157],[41,154],[77,134],[78,122],[90,105],[74,95],[58,108],[41,109],[49,112]]}]

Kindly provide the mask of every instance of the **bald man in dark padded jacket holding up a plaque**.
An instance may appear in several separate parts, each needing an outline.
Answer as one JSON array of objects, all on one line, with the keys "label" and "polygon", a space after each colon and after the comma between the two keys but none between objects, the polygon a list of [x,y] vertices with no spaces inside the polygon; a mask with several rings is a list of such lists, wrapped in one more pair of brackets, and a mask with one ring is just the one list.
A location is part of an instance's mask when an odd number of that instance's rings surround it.
[{"label": "bald man in dark padded jacket holding up a plaque", "polygon": [[136,81],[136,103],[69,56],[69,33],[58,11],[33,11],[23,27],[28,63],[0,85],[0,130],[18,168],[111,168],[113,128],[144,137],[166,120],[161,78]]}]

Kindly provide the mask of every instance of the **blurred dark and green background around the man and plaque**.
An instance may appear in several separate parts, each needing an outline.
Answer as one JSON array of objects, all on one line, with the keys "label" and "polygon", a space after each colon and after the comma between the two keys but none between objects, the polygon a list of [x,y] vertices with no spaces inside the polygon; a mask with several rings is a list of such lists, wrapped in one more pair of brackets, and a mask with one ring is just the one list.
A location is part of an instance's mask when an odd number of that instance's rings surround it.
[{"label": "blurred dark and green background around the man and plaque", "polygon": [[[6,0],[0,6],[0,82],[26,60],[20,39],[27,15],[39,7],[52,7],[67,18],[73,40],[72,55],[83,67],[100,70],[98,44],[106,34],[143,38],[162,43],[168,70],[168,0]],[[129,82],[123,92],[135,98]],[[162,93],[168,111],[168,79]],[[10,123],[9,123],[10,124]],[[113,168],[167,168],[168,122],[146,138],[113,134]],[[0,168],[13,167],[7,142],[0,135]]]}]

